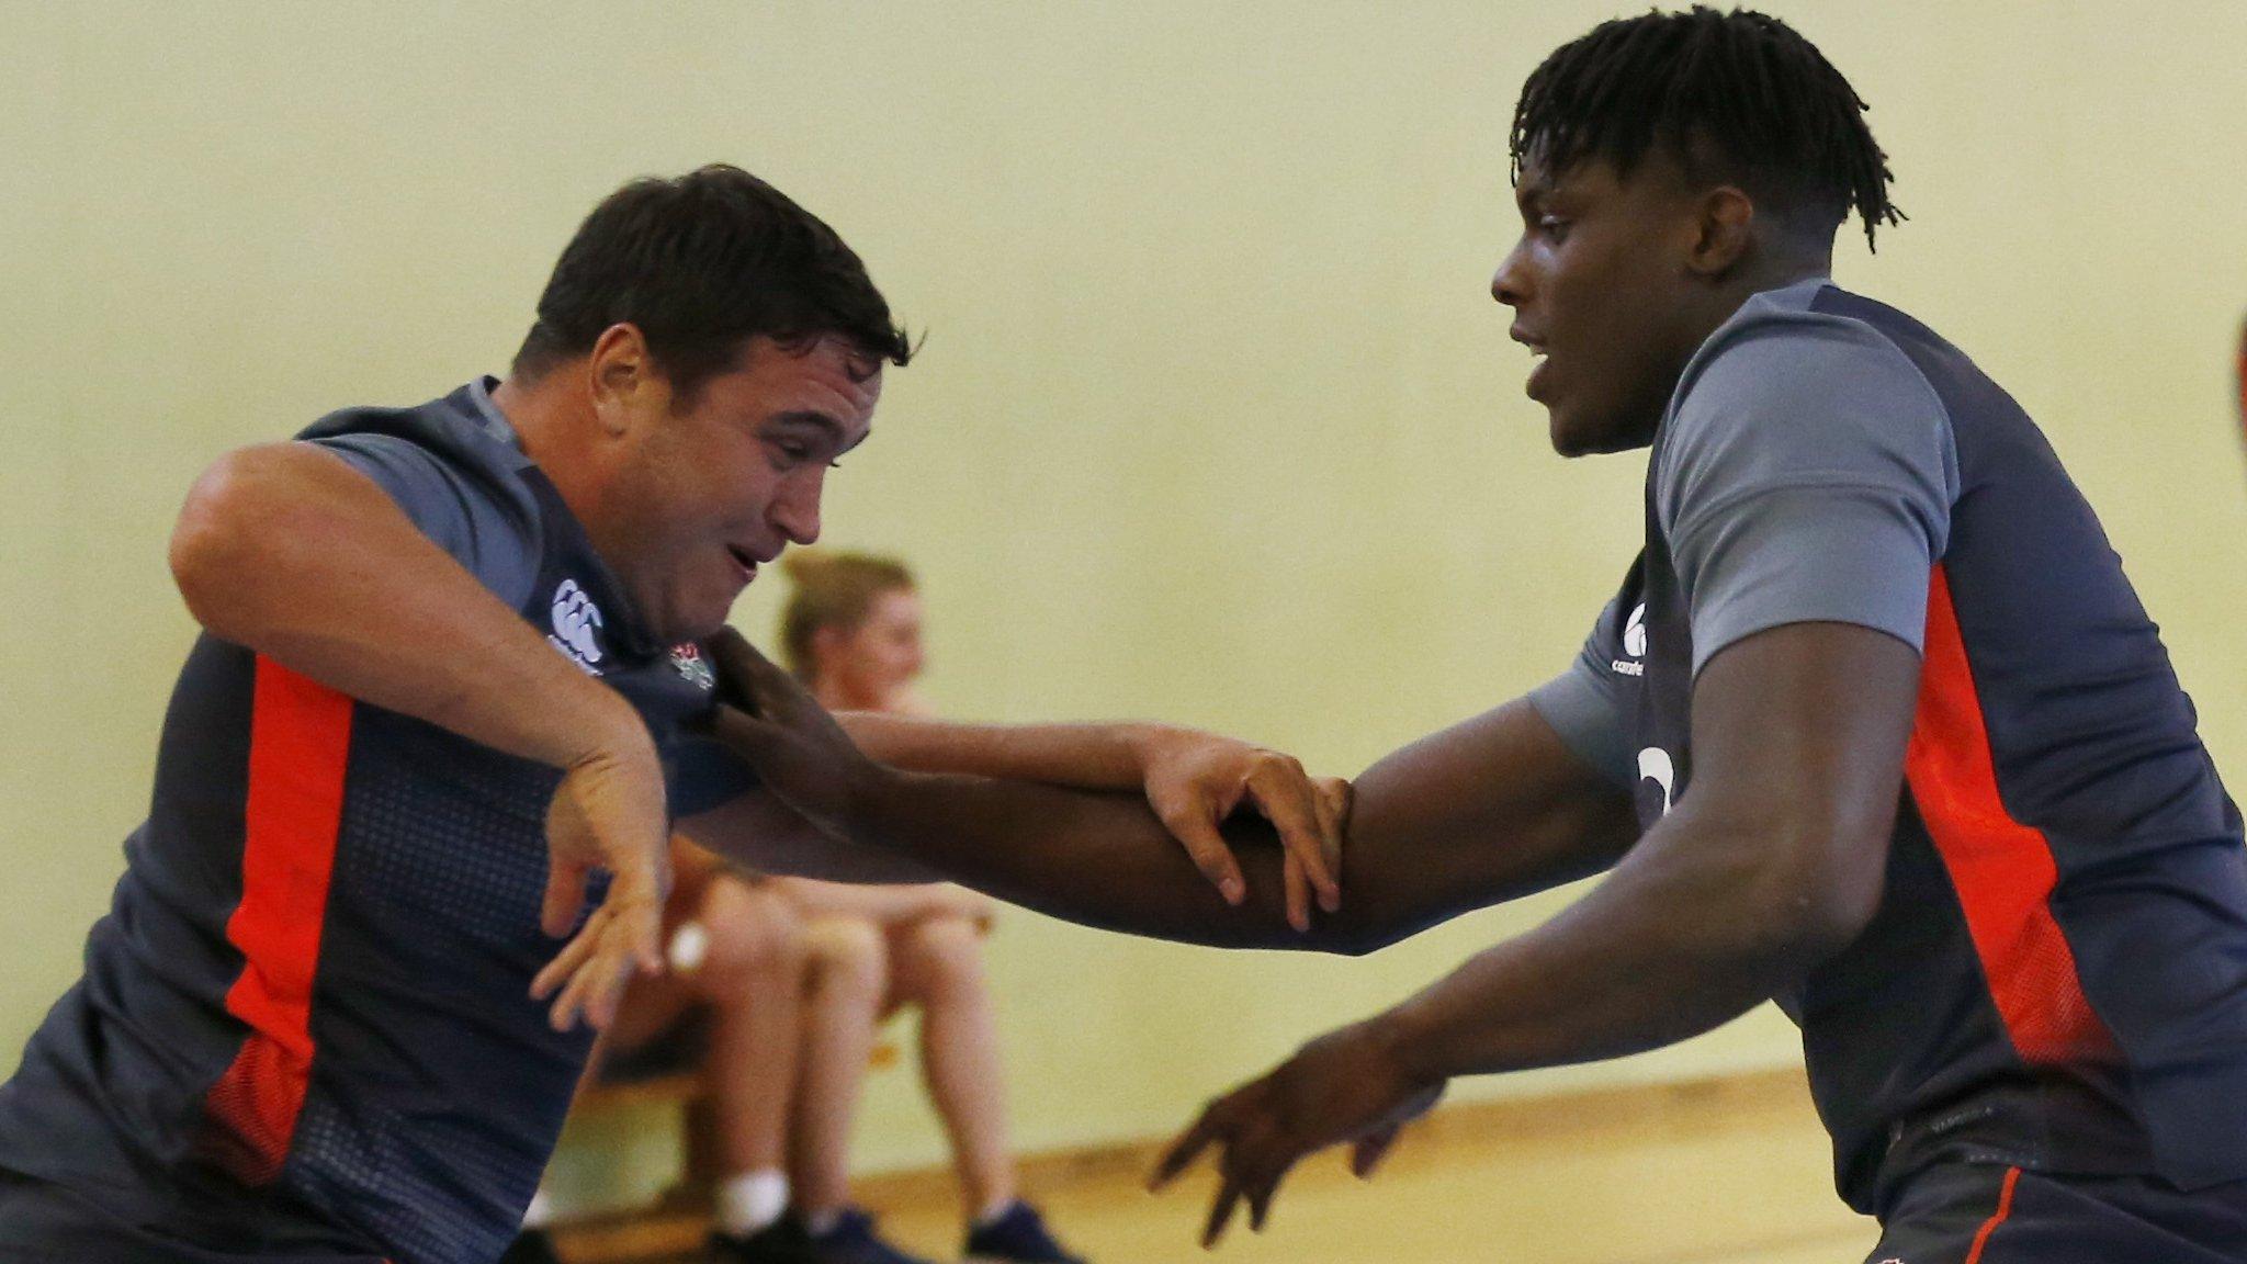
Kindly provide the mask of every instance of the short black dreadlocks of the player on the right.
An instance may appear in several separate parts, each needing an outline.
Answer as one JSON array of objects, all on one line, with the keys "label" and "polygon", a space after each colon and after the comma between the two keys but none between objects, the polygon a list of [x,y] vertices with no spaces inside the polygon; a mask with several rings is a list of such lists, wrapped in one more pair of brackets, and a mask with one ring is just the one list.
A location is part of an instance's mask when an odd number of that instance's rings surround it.
[{"label": "short black dreadlocks of the player on the right", "polygon": [[1750,9],[1649,11],[1600,22],[1521,85],[1510,139],[1559,173],[1604,157],[1629,175],[1649,148],[1687,175],[1737,182],[1773,209],[1820,216],[1834,232],[1854,209],[1872,243],[1903,214],[1887,200],[1887,155],[1865,101],[1786,22]]}]

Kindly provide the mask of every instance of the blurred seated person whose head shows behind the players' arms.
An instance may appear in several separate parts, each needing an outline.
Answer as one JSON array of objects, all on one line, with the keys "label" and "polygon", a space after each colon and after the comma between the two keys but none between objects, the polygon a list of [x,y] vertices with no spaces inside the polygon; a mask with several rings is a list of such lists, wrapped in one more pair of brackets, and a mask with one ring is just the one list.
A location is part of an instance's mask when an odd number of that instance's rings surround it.
[{"label": "blurred seated person whose head shows behind the players' arms", "polygon": [[[831,711],[924,713],[921,605],[912,574],[888,558],[791,553],[795,592],[782,612],[789,668]],[[921,1008],[921,1075],[944,1120],[966,1217],[964,1255],[1070,1264],[1036,1208],[1016,1192],[1007,1145],[995,1012],[982,963],[991,900],[937,886],[771,882],[804,922],[807,990],[791,1176],[795,1219],[822,1260],[892,1264],[894,1248],[849,1206],[849,1129],[876,1026]]]}]

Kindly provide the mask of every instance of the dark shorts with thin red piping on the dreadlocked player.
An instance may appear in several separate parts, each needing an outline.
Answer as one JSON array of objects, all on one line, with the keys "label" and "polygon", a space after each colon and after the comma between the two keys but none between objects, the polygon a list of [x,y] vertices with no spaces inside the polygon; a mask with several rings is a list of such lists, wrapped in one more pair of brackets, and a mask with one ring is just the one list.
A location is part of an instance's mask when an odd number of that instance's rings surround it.
[{"label": "dark shorts with thin red piping on the dreadlocked player", "polygon": [[1910,1176],[1865,1264],[2240,1264],[2247,1181],[2040,1176],[1941,1163]]}]

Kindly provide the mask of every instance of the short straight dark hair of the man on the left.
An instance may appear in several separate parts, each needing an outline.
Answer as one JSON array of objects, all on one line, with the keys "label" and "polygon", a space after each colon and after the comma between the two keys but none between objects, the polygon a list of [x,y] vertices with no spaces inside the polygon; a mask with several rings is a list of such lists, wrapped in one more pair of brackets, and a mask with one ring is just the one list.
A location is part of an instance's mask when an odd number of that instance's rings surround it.
[{"label": "short straight dark hair of the man on the left", "polygon": [[735,367],[757,335],[791,351],[834,335],[876,364],[912,360],[852,247],[780,189],[726,164],[634,180],[593,207],[539,295],[515,371],[535,378],[625,322],[647,337],[679,398]]}]

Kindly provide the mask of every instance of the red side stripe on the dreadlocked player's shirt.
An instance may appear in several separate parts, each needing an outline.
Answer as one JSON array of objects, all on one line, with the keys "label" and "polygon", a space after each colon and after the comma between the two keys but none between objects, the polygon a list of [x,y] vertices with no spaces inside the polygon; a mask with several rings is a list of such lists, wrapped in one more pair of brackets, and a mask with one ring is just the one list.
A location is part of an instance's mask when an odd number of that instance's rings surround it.
[{"label": "red side stripe on the dreadlocked player's shirt", "polygon": [[1950,605],[1950,578],[1939,565],[1928,585],[1919,715],[1903,774],[2022,1062],[2112,1057],[2114,1037],[2085,1001],[2076,954],[2052,918],[2058,884],[2052,846],[2040,830],[2016,821],[1998,794],[1982,697]]}]

